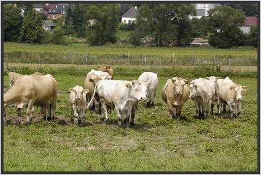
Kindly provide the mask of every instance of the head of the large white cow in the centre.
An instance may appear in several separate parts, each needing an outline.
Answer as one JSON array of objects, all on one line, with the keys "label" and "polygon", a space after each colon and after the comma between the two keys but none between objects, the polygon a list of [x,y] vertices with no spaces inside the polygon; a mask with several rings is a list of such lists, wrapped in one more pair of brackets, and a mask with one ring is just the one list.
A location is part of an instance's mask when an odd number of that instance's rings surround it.
[{"label": "head of the large white cow in the centre", "polygon": [[147,86],[138,80],[133,80],[132,84],[126,83],[125,86],[130,89],[130,96],[135,100],[147,100],[146,91]]}]

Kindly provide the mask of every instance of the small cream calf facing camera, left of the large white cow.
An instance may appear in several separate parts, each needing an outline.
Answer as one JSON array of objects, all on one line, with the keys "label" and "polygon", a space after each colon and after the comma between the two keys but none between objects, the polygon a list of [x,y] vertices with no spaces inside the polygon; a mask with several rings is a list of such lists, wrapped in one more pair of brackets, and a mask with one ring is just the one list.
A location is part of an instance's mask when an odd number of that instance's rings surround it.
[{"label": "small cream calf facing camera, left of the large white cow", "polygon": [[85,121],[86,94],[88,89],[83,89],[82,86],[76,85],[70,88],[70,105],[71,105],[71,122],[81,125],[81,119]]}]

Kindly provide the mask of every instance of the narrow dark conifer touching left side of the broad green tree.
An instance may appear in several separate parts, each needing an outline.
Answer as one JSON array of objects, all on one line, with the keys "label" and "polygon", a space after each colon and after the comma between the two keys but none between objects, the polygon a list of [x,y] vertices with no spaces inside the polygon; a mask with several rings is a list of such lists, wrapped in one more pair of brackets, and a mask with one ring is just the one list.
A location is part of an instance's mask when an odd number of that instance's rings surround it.
[{"label": "narrow dark conifer touching left side of the broad green tree", "polygon": [[77,37],[85,36],[85,21],[79,4],[72,11],[72,21]]}]

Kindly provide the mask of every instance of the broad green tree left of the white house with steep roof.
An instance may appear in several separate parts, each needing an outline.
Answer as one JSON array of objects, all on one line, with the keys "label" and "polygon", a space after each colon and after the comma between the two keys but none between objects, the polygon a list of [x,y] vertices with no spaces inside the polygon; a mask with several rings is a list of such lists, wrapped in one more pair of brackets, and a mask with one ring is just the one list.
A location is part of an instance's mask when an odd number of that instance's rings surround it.
[{"label": "broad green tree left of the white house with steep roof", "polygon": [[86,41],[91,46],[116,42],[119,6],[115,4],[85,4]]}]

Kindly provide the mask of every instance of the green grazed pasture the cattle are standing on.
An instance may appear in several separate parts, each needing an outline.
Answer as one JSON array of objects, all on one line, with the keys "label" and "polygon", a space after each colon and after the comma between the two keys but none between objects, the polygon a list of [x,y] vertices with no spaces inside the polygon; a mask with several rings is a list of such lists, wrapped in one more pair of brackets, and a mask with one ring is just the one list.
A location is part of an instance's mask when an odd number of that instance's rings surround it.
[{"label": "green grazed pasture the cattle are standing on", "polygon": [[[5,47],[10,50],[11,45]],[[58,89],[67,91],[83,85],[84,78],[83,74],[57,74]],[[114,77],[137,78],[117,74]],[[206,120],[197,118],[190,99],[184,105],[181,120],[170,119],[160,95],[168,79],[163,76],[159,76],[155,107],[145,108],[140,102],[136,126],[127,129],[117,126],[114,110],[109,114],[110,124],[99,123],[100,116],[93,111],[86,114],[88,126],[69,124],[69,94],[64,93],[58,94],[55,122],[42,121],[37,109],[29,126],[16,126],[12,124],[17,120],[16,109],[9,108],[7,119],[11,123],[4,125],[4,170],[257,171],[257,80],[231,78],[249,87],[243,94],[242,113],[235,119],[230,119],[228,112],[217,116],[216,104],[214,115]],[[4,87],[8,86],[8,77],[4,76]],[[61,119],[67,123],[59,124]]]}]

